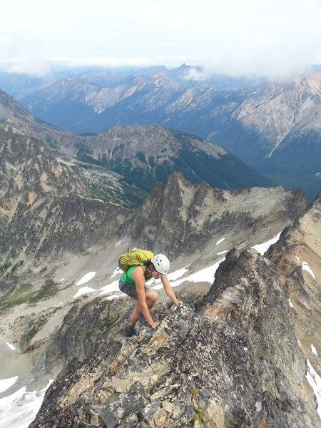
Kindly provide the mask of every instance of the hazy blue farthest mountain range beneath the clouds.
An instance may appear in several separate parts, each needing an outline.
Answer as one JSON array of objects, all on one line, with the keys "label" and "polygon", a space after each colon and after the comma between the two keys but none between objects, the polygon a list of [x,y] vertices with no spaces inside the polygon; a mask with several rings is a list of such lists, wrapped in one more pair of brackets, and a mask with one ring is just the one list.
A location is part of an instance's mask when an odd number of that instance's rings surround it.
[{"label": "hazy blue farthest mountain range beneath the clouds", "polygon": [[[11,88],[9,76],[0,85]],[[321,188],[321,73],[287,81],[205,78],[197,67],[174,70],[68,71],[26,81],[14,93],[31,113],[74,133],[158,123],[221,146],[308,198]],[[12,89],[12,88],[11,88]],[[12,93],[12,92],[11,92]]]}]

